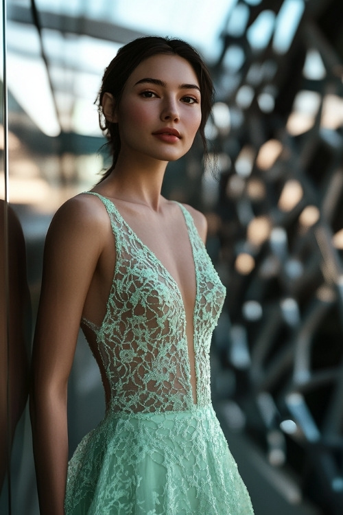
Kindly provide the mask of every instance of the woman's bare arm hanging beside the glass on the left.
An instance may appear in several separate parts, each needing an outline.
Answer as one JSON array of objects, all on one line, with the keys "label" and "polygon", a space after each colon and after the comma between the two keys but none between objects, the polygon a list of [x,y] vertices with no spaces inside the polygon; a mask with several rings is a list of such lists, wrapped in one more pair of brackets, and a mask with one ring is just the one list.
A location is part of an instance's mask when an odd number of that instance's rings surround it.
[{"label": "woman's bare arm hanging beside the glass on the left", "polygon": [[103,210],[85,197],[58,210],[45,242],[30,398],[41,515],[64,514],[67,382],[84,301],[102,253]]}]

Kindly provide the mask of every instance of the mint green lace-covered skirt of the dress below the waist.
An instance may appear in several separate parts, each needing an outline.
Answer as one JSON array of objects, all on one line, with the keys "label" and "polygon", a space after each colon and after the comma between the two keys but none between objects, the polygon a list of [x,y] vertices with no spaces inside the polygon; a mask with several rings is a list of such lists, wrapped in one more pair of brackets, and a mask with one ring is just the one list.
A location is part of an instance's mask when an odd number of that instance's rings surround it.
[{"label": "mint green lace-covered skirt of the dress below the waist", "polygon": [[66,515],[249,515],[213,407],[115,413],[69,461]]}]

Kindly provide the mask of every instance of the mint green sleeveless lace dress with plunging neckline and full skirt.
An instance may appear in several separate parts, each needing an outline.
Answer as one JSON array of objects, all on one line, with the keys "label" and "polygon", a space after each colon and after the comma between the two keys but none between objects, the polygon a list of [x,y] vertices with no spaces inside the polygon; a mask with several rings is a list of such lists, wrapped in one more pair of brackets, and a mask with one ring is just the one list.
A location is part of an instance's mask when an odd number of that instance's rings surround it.
[{"label": "mint green sleeveless lace dress with plunging neckline and full skirt", "polygon": [[225,288],[189,211],[196,271],[193,313],[197,403],[186,315],[167,269],[104,203],[115,236],[115,274],[96,335],[109,392],[106,413],[69,461],[66,515],[249,515],[252,505],[211,405],[209,347]]}]

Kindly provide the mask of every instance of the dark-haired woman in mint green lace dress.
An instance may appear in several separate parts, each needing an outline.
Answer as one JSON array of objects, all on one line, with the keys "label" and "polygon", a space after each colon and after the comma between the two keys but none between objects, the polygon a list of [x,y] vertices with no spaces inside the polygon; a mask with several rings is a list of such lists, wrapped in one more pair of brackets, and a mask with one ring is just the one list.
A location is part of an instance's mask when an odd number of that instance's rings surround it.
[{"label": "dark-haired woman in mint green lace dress", "polygon": [[[113,165],[62,205],[45,246],[32,400],[42,515],[252,513],[211,407],[209,344],[225,290],[204,250],[205,218],[161,196],[167,163],[198,131],[205,141],[212,95],[200,56],[178,40],[132,41],[104,73]],[[106,414],[67,474],[80,323]]]}]

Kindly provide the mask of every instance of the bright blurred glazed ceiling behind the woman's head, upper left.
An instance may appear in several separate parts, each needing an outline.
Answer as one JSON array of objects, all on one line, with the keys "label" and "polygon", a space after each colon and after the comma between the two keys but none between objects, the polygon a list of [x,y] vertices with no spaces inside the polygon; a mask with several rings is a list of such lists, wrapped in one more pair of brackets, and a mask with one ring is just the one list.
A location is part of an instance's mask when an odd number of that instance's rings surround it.
[{"label": "bright blurred glazed ceiling behind the woman's head, upper left", "polygon": [[[47,1],[8,5],[10,92],[49,136],[99,136],[93,102],[105,67],[123,43],[145,34],[187,38],[204,58],[222,51],[220,33],[235,0]],[[23,80],[25,78],[25,80]]]}]

